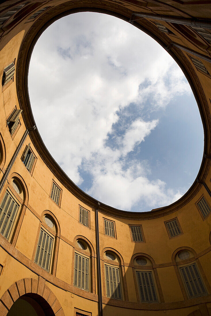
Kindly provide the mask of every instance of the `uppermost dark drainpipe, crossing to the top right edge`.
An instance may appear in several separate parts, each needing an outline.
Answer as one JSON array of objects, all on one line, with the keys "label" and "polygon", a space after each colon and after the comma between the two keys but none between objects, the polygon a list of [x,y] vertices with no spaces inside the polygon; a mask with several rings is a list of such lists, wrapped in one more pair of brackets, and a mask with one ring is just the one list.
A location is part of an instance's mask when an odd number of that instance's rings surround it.
[{"label": "uppermost dark drainpipe, crossing to the top right edge", "polygon": [[155,14],[148,14],[148,13],[133,12],[129,22],[133,22],[132,19],[134,15],[140,16],[142,18],[149,18],[149,19],[166,21],[166,22],[171,22],[171,23],[176,23],[176,24],[183,24],[183,25],[211,29],[211,20],[190,19],[190,18],[182,18],[178,16],[170,16],[170,15],[155,15]]}]

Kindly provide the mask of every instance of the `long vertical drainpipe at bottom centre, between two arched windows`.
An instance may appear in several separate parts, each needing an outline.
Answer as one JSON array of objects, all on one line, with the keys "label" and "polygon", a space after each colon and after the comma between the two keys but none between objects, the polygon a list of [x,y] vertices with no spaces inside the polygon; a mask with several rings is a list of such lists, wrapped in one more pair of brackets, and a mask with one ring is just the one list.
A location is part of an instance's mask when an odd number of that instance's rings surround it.
[{"label": "long vertical drainpipe at bottom centre, between two arched windows", "polygon": [[101,282],[101,269],[100,269],[100,250],[99,250],[99,223],[98,223],[98,210],[100,203],[95,209],[95,226],[96,226],[96,244],[97,244],[97,267],[98,267],[98,310],[99,316],[103,316],[103,299],[102,299],[102,282]]}]

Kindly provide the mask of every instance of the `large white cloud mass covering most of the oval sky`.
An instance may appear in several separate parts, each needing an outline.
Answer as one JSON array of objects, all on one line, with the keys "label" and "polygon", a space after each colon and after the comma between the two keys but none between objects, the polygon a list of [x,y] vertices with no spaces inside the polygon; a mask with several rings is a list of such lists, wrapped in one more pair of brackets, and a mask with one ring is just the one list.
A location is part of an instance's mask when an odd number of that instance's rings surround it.
[{"label": "large white cloud mass covering most of the oval sky", "polygon": [[29,67],[33,114],[54,159],[77,185],[83,182],[79,167],[89,171],[93,185],[88,193],[128,210],[142,200],[149,207],[169,204],[180,192],[150,180],[147,161],[127,159],[156,130],[157,119],[137,118],[117,137],[118,149],[105,145],[117,111],[131,102],[144,106],[149,98],[155,111],[190,91],[182,70],[148,35],[96,13],[74,14],[51,25]]}]

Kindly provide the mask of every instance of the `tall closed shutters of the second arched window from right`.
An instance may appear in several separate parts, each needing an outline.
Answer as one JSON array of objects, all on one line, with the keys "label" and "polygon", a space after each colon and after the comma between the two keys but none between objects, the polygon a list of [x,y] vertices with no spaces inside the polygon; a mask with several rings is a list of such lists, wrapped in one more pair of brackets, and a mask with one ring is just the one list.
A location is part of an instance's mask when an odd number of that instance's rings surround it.
[{"label": "tall closed shutters of the second arched window from right", "polygon": [[142,302],[158,302],[151,271],[136,271]]}]

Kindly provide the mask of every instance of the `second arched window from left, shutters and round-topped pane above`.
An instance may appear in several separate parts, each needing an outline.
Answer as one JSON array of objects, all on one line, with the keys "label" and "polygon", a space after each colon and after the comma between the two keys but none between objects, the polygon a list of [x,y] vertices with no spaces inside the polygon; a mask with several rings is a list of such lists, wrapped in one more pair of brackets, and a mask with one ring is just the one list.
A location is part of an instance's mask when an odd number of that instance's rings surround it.
[{"label": "second arched window from left, shutters and round-topped pane above", "polygon": [[[53,214],[45,211],[42,214],[41,223],[38,228],[38,242],[34,250],[34,262],[42,269],[51,274],[55,274],[58,243],[58,224]],[[54,258],[54,260],[53,260]]]}]

